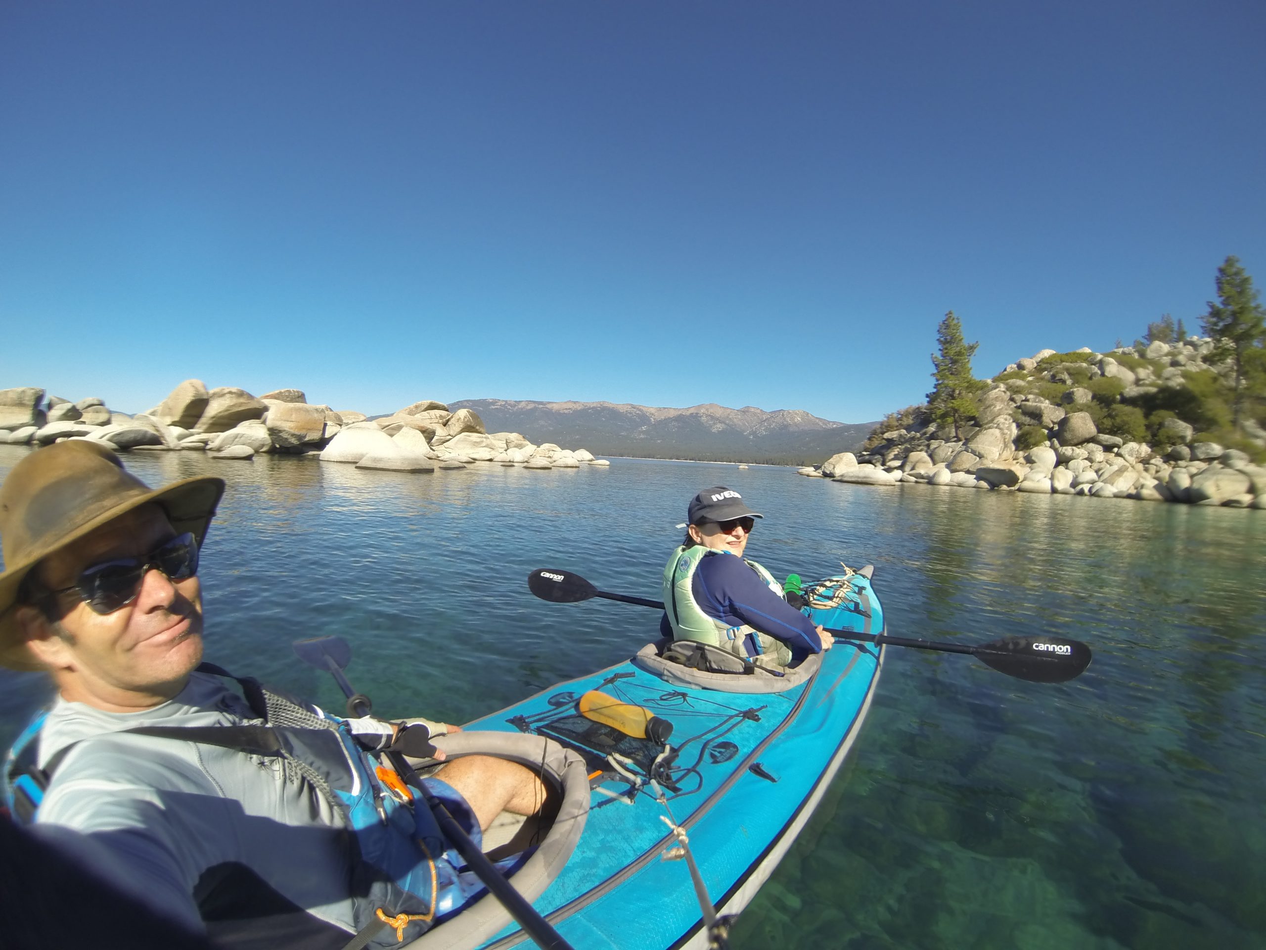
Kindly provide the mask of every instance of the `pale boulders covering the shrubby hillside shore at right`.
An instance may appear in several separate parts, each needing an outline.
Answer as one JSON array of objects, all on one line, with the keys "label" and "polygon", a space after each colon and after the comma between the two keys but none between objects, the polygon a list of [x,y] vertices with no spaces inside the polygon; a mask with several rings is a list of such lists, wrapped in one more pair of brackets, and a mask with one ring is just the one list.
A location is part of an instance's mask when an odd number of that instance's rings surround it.
[{"label": "pale boulders covering the shrubby hillside shore at right", "polygon": [[[1184,385],[1188,372],[1220,371],[1203,362],[1213,350],[1213,341],[1199,338],[1153,342],[1142,352],[1043,350],[999,374],[981,395],[976,418],[957,433],[936,426],[918,407],[910,424],[879,433],[867,451],[839,452],[799,472],[860,485],[925,484],[1266,509],[1266,467],[1255,465],[1247,452],[1193,441],[1193,426],[1177,418],[1165,419],[1158,434],[1166,445],[1153,447],[1101,433],[1089,412],[1070,410],[1091,402],[1091,391],[1075,385],[1079,379],[1120,380],[1122,396],[1136,399]],[[1067,361],[1052,362],[1061,357]],[[1060,403],[1036,395],[1034,383],[1062,389]],[[1041,445],[1018,445],[1022,429],[1037,431]],[[1261,427],[1250,423],[1246,429],[1255,445],[1266,447]]]}]

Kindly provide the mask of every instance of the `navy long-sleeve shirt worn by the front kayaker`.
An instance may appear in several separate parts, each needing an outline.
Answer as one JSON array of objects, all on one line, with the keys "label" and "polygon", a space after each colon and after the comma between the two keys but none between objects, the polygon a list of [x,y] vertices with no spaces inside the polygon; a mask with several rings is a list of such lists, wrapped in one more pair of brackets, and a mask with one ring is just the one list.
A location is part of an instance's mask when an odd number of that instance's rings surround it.
[{"label": "navy long-sleeve shirt worn by the front kayaker", "polygon": [[[706,555],[690,583],[695,603],[727,627],[748,624],[791,647],[793,661],[822,652],[818,631],[808,617],[770,590],[761,575],[729,551]],[[660,632],[672,636],[668,614],[660,618]]]}]

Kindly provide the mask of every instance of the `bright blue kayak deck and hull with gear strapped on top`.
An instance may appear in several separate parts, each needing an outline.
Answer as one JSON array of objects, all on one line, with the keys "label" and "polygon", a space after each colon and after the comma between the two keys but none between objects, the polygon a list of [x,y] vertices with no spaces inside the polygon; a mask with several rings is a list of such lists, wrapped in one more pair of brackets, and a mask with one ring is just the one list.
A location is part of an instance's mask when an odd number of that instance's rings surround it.
[{"label": "bright blue kayak deck and hull with gear strapped on top", "polygon": [[[882,632],[868,575],[863,569],[808,585],[805,613],[825,627]],[[647,645],[625,662],[456,733],[463,741],[480,732],[530,733],[582,760],[582,830],[548,883],[530,888],[536,908],[577,950],[708,946],[680,833],[717,913],[742,911],[856,742],[884,659],[882,647],[837,641],[777,676],[708,669],[699,657],[672,655],[672,646]],[[671,723],[671,736],[639,738],[586,717],[581,700],[592,690]],[[456,931],[468,913],[418,946],[444,940],[446,931],[448,946],[533,946],[513,923],[466,944]]]}]

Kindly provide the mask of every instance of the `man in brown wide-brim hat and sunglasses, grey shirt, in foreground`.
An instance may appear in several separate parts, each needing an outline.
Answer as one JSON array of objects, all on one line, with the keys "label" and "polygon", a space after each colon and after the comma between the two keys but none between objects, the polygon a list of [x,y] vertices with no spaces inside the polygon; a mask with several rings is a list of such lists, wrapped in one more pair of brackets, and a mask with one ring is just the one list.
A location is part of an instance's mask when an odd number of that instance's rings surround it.
[{"label": "man in brown wide-brim hat and sunglasses, grey shirt, in foreground", "polygon": [[[151,489],[81,440],[32,452],[0,485],[0,662],[46,670],[57,687],[15,746],[14,814],[224,946],[341,947],[358,932],[379,946],[398,925],[415,936],[471,892],[429,813],[394,806],[380,864],[360,832],[348,837],[362,827],[356,808],[392,814],[367,751],[404,727],[337,721],[253,680],[239,692],[199,665],[199,552],[223,491],[216,478]],[[241,738],[261,730],[282,751]],[[530,814],[546,798],[536,775],[498,759],[467,756],[441,774],[425,782],[475,836],[503,809]]]}]

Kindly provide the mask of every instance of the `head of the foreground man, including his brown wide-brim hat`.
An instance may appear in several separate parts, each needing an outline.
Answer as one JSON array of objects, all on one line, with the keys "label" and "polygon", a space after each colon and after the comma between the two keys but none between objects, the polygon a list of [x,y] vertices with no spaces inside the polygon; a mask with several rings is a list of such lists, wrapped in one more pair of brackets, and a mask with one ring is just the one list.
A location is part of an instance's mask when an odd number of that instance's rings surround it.
[{"label": "head of the foreground man, including his brown wide-brim hat", "polygon": [[[122,704],[118,712],[135,708],[128,695],[133,687],[162,689],[154,681],[156,664],[171,673],[172,681],[186,676],[203,655],[196,555],[187,579],[161,585],[170,590],[138,583],[138,595],[142,590],[166,595],[154,609],[146,609],[147,599],[127,613],[114,611],[97,619],[103,614],[62,594],[70,594],[67,588],[77,579],[76,561],[97,554],[148,554],[151,536],[187,532],[196,552],[223,494],[224,481],[210,476],[151,489],[113,452],[87,441],[61,442],[25,457],[0,486],[5,564],[0,662],[19,670],[48,669],[63,695],[103,708]],[[149,581],[162,576],[148,573]],[[114,631],[100,631],[114,642],[92,637],[80,643],[62,626],[68,613],[94,627],[120,630],[113,637]],[[73,661],[81,649],[92,651],[92,662]]]}]

